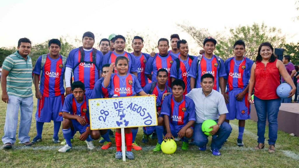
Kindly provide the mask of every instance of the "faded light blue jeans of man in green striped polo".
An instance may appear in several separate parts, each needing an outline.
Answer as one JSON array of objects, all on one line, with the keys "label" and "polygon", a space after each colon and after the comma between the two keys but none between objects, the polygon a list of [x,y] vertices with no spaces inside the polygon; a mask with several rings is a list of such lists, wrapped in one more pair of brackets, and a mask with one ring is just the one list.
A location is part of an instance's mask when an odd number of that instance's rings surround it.
[{"label": "faded light blue jeans of man in green striped polo", "polygon": [[22,98],[8,95],[4,136],[2,142],[14,144],[16,142],[16,130],[20,108],[20,126],[18,139],[21,143],[30,142],[29,131],[31,126],[33,97]]}]

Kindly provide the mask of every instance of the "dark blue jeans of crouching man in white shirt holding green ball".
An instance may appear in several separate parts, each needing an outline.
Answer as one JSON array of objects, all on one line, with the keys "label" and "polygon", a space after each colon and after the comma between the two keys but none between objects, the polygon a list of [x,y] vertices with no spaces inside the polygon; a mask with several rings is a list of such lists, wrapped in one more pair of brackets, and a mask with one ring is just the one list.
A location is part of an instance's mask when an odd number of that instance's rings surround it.
[{"label": "dark blue jeans of crouching man in white shirt holding green ball", "polygon": [[[216,121],[217,122],[217,121]],[[231,135],[231,125],[227,122],[221,124],[221,128],[217,131],[215,135],[218,135],[215,139],[213,138],[211,148],[212,149],[221,149],[225,140]],[[196,146],[203,147],[208,143],[208,135],[205,135],[202,132],[202,123],[194,124],[194,134],[193,134],[194,143]]]}]

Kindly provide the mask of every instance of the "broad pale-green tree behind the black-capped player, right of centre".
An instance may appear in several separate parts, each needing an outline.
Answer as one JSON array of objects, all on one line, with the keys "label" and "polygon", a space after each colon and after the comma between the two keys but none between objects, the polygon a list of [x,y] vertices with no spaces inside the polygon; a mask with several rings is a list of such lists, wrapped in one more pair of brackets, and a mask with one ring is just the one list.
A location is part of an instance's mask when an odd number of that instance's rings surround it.
[{"label": "broad pale-green tree behind the black-capped player, right of centre", "polygon": [[[186,31],[199,46],[205,37],[209,36],[207,29],[196,29],[194,26],[178,24],[184,31]],[[227,59],[233,56],[234,43],[242,39],[246,45],[245,55],[250,59],[255,59],[257,50],[262,42],[270,42],[274,48],[281,48],[286,41],[285,35],[281,35],[281,30],[275,27],[266,26],[264,23],[259,25],[254,23],[251,26],[239,26],[237,28],[230,28],[229,35],[225,36],[221,32],[213,35],[217,40],[216,49],[214,53],[219,55],[222,59]]]}]

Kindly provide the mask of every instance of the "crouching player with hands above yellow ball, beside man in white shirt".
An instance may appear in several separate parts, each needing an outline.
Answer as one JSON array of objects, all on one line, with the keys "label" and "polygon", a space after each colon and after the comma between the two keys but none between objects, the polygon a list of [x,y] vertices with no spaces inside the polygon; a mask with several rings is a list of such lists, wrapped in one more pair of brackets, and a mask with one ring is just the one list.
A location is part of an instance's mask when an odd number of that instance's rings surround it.
[{"label": "crouching player with hands above yellow ball, beside man in white shirt", "polygon": [[164,139],[182,138],[182,150],[188,150],[188,140],[193,136],[191,126],[196,120],[193,100],[183,95],[186,88],[184,81],[176,79],[171,83],[171,87],[173,94],[164,98],[161,108],[166,131],[163,126],[156,126],[158,143],[153,149],[154,152],[161,151],[163,132],[166,134]]}]

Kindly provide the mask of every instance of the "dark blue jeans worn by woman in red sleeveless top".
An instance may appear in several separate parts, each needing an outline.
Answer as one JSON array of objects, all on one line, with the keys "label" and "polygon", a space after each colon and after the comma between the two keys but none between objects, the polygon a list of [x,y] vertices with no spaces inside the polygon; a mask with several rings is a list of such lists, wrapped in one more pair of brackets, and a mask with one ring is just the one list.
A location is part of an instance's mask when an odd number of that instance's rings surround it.
[{"label": "dark blue jeans worn by woman in red sleeveless top", "polygon": [[262,100],[254,96],[254,107],[257,111],[257,142],[265,143],[266,120],[269,122],[269,145],[274,145],[277,140],[277,115],[280,107],[280,98]]}]

